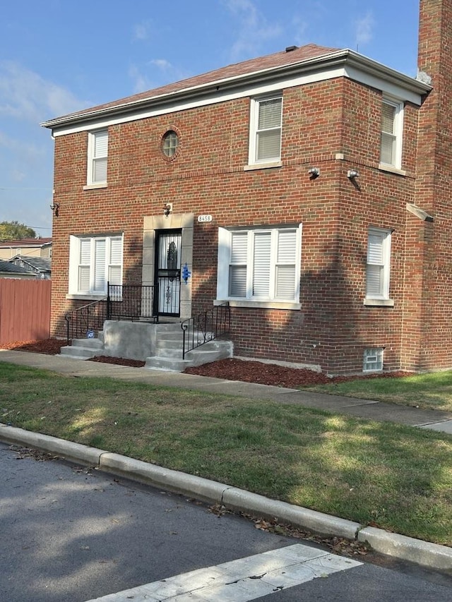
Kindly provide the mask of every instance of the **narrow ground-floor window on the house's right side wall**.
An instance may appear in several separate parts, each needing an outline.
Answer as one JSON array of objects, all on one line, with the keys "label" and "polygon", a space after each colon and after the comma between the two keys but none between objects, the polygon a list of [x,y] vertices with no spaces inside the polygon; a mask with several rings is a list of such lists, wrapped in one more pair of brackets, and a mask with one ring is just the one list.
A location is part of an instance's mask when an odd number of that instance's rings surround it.
[{"label": "narrow ground-floor window on the house's right side wall", "polygon": [[369,228],[367,238],[366,297],[389,299],[391,230]]}]

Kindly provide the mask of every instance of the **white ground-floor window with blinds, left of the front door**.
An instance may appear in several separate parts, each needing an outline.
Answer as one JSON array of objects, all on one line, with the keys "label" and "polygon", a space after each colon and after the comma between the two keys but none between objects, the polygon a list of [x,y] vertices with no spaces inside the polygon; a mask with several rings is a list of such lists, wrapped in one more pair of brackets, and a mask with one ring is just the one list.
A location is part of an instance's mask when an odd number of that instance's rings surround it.
[{"label": "white ground-floor window with blinds, left of the front door", "polygon": [[105,295],[107,282],[122,283],[122,236],[71,236],[69,293]]}]

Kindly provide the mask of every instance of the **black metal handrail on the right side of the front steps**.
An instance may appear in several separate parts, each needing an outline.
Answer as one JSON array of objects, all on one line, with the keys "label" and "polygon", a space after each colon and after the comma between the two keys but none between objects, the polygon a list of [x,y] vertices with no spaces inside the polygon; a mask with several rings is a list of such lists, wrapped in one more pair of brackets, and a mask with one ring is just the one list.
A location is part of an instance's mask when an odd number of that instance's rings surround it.
[{"label": "black metal handrail on the right side of the front steps", "polygon": [[181,323],[183,332],[182,359],[189,351],[206,344],[222,335],[227,335],[231,328],[231,309],[227,301],[207,311],[187,318]]}]

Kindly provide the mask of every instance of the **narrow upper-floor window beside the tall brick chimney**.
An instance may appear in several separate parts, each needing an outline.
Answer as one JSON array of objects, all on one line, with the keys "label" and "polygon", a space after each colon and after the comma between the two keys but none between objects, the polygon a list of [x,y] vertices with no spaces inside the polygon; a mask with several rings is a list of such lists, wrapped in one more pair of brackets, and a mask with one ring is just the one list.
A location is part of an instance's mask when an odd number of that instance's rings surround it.
[{"label": "narrow upper-floor window beside the tall brick chimney", "polygon": [[380,162],[400,169],[402,164],[403,104],[383,100]]}]

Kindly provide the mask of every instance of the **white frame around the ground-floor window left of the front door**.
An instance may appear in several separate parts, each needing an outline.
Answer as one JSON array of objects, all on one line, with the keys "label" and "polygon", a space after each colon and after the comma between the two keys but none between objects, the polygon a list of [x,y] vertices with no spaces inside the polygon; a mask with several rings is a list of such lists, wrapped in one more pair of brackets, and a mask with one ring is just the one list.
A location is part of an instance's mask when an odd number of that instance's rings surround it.
[{"label": "white frame around the ground-floor window left of the front door", "polygon": [[[124,236],[122,234],[111,234],[111,235],[99,235],[99,236],[70,236],[69,237],[69,291],[67,297],[69,299],[100,299],[107,294],[107,281],[109,277],[109,257],[110,257],[110,245],[112,239],[121,239],[121,282],[115,282],[114,284],[122,284],[122,274],[124,269]],[[81,251],[81,241],[89,240],[91,243],[90,253],[90,289],[88,291],[82,291],[78,288],[78,268],[79,258]],[[95,265],[95,253],[94,246],[95,241],[105,240],[105,286],[102,290],[94,289],[94,265]]]}]

